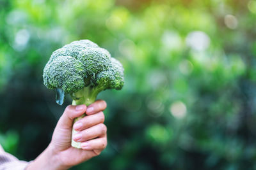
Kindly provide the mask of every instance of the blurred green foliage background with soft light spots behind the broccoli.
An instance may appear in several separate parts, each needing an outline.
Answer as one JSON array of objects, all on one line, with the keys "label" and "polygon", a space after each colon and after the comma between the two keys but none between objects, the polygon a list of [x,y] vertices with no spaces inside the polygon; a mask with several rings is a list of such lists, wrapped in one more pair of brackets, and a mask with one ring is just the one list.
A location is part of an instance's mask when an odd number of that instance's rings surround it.
[{"label": "blurred green foliage background with soft light spots behind the broccoli", "polygon": [[108,147],[72,169],[256,169],[256,1],[0,0],[0,143],[32,160],[63,113],[42,71],[78,39],[125,87],[99,96]]}]

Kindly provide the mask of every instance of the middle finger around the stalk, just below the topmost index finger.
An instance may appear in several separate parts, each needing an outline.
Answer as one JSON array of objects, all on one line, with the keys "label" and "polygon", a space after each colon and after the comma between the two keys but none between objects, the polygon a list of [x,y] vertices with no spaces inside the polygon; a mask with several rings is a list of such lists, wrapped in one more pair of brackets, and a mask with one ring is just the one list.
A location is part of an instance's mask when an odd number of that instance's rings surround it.
[{"label": "middle finger around the stalk, just below the topmost index finger", "polygon": [[74,124],[74,129],[76,131],[83,131],[84,129],[92,127],[93,125],[103,124],[104,120],[104,113],[100,111],[99,113],[88,115],[82,118],[81,120],[77,121],[76,124]]}]

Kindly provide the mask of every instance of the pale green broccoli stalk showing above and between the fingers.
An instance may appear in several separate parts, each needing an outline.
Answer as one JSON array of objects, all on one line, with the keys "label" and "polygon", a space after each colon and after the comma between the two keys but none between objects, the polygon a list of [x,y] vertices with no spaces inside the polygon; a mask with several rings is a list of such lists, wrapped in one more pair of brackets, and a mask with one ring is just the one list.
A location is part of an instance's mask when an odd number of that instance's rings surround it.
[{"label": "pale green broccoli stalk showing above and between the fingers", "polygon": [[[89,106],[96,100],[96,97],[98,94],[99,94],[99,90],[92,88],[92,87],[84,87],[84,89],[79,90],[78,92],[72,94],[72,99],[73,99],[72,105],[76,106],[79,104],[85,104],[86,106]],[[81,118],[83,118],[85,116],[86,116],[86,114],[83,114],[81,117],[75,118],[73,124],[75,124],[78,120],[80,120]],[[71,146],[73,146],[74,148],[81,148],[81,143],[73,140],[73,136],[76,133],[77,133],[77,131],[75,131],[72,128]]]}]

